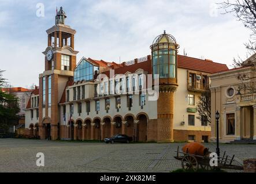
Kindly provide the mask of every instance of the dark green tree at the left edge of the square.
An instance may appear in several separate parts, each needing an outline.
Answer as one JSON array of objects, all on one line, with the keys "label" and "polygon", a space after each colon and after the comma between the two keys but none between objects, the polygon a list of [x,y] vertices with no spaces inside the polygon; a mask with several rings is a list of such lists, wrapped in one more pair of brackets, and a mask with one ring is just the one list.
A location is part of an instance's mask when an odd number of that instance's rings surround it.
[{"label": "dark green tree at the left edge of the square", "polygon": [[9,123],[17,120],[16,114],[20,111],[20,108],[16,95],[2,90],[6,83],[3,72],[3,70],[0,70],[0,131],[6,133],[9,129]]}]

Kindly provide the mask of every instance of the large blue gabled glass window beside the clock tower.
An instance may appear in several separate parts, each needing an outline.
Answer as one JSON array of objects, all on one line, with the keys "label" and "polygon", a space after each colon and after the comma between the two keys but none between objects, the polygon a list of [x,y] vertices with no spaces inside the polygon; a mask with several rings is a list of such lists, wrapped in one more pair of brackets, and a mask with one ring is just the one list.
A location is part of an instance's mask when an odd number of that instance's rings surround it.
[{"label": "large blue gabled glass window beside the clock tower", "polygon": [[74,71],[74,81],[91,81],[94,78],[95,70],[99,70],[98,67],[94,67],[86,59],[81,60],[81,62],[76,66]]}]

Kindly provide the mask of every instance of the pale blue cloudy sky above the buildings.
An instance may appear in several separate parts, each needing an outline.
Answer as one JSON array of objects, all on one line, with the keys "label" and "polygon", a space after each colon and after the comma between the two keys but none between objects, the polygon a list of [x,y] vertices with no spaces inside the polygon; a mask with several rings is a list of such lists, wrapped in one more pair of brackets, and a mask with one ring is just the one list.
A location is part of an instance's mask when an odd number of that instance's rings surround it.
[{"label": "pale blue cloudy sky above the buildings", "polygon": [[[221,1],[221,0],[220,0]],[[232,64],[246,57],[250,32],[232,15],[221,14],[218,0],[0,0],[0,69],[12,86],[38,85],[44,70],[46,29],[55,24],[56,6],[66,24],[77,30],[75,49],[82,56],[121,62],[150,55],[150,45],[166,30],[188,56]],[[38,3],[44,16],[38,17]],[[42,7],[42,6],[40,6]],[[41,14],[42,15],[42,14]]]}]

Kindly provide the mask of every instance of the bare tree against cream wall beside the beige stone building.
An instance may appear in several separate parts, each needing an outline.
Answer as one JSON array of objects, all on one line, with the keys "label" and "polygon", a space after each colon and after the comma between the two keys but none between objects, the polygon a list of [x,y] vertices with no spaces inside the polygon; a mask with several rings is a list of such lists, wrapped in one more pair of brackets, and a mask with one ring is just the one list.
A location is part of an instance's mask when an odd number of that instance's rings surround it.
[{"label": "bare tree against cream wall beside the beige stone building", "polygon": [[196,117],[205,125],[211,123],[211,91],[209,87],[201,94],[199,101],[196,104],[199,116]]}]

